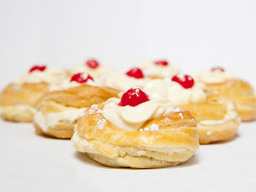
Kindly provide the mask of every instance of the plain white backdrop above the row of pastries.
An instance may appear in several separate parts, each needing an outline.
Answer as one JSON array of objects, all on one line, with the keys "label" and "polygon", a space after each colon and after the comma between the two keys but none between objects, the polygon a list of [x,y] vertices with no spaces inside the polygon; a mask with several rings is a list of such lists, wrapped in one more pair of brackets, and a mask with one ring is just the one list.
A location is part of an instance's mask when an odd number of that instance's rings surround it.
[{"label": "plain white backdrop above the row of pastries", "polygon": [[255,0],[0,0],[0,87],[34,63],[88,57],[115,68],[157,58],[187,71],[222,65],[256,82],[255,20]]}]

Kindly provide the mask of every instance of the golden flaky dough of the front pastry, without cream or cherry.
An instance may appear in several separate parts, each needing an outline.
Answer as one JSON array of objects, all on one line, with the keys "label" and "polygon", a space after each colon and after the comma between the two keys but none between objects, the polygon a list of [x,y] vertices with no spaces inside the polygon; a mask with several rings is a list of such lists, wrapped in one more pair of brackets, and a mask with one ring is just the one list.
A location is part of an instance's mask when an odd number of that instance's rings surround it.
[{"label": "golden flaky dough of the front pastry, without cream or cherry", "polygon": [[[79,152],[111,167],[159,168],[188,161],[198,149],[196,122],[189,111],[172,112],[148,120],[159,131],[126,131],[89,108],[78,120],[72,143]],[[182,114],[182,115],[179,115]],[[183,116],[183,118],[181,117]]]}]

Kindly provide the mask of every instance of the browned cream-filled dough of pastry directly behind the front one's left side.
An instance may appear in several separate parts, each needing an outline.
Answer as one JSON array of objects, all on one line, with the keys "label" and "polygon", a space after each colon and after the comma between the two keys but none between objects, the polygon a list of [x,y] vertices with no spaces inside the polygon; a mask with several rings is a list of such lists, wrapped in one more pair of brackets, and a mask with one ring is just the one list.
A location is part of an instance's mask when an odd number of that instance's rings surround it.
[{"label": "browned cream-filled dough of pastry directly behind the front one's left side", "polygon": [[113,88],[88,84],[45,93],[38,101],[38,112],[34,117],[36,132],[71,138],[77,118],[86,108],[117,95],[118,91]]}]

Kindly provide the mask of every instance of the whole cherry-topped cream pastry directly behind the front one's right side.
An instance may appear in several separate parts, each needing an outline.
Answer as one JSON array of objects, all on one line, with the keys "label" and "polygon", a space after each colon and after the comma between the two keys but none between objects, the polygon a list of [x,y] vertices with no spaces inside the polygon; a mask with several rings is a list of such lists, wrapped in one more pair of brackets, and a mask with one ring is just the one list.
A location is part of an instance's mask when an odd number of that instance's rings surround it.
[{"label": "whole cherry-topped cream pastry directly behind the front one's right side", "polygon": [[191,76],[155,79],[144,90],[152,97],[166,95],[179,108],[190,111],[198,124],[200,144],[228,140],[236,134],[240,118],[232,100],[205,90]]}]

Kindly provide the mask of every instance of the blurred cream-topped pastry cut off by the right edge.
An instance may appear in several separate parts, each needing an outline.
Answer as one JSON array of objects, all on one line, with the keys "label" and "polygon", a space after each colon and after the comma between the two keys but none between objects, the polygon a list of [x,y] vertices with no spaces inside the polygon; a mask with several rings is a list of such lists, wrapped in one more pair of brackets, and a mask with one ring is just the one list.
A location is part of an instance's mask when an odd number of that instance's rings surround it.
[{"label": "blurred cream-topped pastry cut off by the right edge", "polygon": [[256,97],[252,86],[237,79],[223,68],[212,68],[210,72],[195,73],[195,77],[214,92],[234,100],[237,113],[243,122],[255,120]]}]

